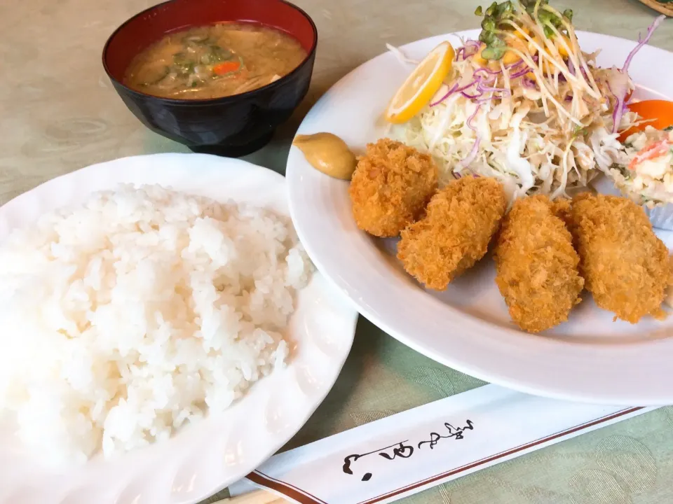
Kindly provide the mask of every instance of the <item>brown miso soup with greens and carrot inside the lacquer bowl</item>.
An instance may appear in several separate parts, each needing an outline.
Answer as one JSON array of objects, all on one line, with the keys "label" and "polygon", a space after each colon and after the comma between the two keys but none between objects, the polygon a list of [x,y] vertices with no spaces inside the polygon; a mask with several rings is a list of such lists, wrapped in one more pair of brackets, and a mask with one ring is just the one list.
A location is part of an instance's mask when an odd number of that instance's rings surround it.
[{"label": "brown miso soup with greens and carrot inside the lacquer bowl", "polygon": [[306,50],[283,31],[250,23],[221,23],[168,34],[132,59],[124,84],[175,99],[239,94],[287,75]]}]

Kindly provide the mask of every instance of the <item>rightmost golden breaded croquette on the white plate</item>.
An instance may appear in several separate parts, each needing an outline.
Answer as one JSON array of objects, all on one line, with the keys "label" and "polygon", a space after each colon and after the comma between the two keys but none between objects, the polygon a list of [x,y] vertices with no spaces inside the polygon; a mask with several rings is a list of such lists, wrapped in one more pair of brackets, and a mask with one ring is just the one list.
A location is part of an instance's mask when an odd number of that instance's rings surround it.
[{"label": "rightmost golden breaded croquette on the white plate", "polygon": [[625,197],[583,193],[573,200],[571,232],[599,307],[630,323],[664,316],[668,249],[641,207]]}]

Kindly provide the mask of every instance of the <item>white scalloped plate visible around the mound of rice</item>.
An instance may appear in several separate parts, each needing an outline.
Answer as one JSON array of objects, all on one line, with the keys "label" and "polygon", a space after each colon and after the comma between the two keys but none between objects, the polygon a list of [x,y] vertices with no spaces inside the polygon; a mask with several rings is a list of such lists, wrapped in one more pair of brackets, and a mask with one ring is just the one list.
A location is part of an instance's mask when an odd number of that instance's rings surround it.
[{"label": "white scalloped plate visible around the mound of rice", "polygon": [[[41,214],[118,183],[160,184],[220,202],[248,202],[288,215],[283,176],[201,154],[156,154],[93,165],[48,181],[0,208],[0,241]],[[0,426],[2,504],[187,504],[245,476],[290,440],[337,379],[357,312],[318,272],[299,291],[288,335],[294,356],[226,412],[186,426],[167,442],[111,461],[101,456],[53,472]]]}]

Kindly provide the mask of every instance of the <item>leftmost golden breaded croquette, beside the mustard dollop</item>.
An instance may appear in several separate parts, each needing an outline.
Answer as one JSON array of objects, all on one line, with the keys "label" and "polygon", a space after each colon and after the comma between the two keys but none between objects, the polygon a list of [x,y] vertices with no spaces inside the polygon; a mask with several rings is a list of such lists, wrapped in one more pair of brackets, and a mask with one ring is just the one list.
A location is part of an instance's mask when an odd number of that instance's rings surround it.
[{"label": "leftmost golden breaded croquette, beside the mustard dollop", "polygon": [[396,237],[423,214],[436,190],[437,165],[430,155],[381,139],[358,158],[348,192],[358,228]]}]

